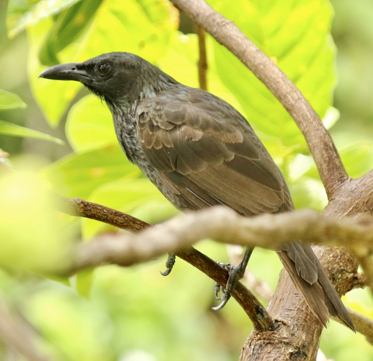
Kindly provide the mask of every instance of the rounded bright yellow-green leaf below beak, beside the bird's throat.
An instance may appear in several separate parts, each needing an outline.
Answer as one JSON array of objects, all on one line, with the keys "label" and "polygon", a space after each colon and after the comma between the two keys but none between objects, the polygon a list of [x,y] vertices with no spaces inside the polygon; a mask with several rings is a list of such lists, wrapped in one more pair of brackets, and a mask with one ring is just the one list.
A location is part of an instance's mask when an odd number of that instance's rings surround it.
[{"label": "rounded bright yellow-green leaf below beak, beside the bird's throat", "polygon": [[93,95],[85,96],[70,109],[66,136],[79,152],[118,143],[109,109]]}]

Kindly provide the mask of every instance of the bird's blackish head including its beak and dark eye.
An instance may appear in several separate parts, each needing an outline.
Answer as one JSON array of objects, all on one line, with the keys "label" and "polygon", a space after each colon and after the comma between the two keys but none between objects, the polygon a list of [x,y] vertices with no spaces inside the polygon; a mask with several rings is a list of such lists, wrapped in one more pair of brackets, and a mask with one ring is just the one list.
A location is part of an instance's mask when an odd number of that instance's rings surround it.
[{"label": "bird's blackish head including its beak and dark eye", "polygon": [[124,52],[102,54],[82,63],[55,65],[39,75],[47,79],[80,81],[106,102],[134,97],[148,87],[147,79],[153,80],[149,84],[160,84],[164,76],[169,78],[166,83],[175,82],[140,56]]}]

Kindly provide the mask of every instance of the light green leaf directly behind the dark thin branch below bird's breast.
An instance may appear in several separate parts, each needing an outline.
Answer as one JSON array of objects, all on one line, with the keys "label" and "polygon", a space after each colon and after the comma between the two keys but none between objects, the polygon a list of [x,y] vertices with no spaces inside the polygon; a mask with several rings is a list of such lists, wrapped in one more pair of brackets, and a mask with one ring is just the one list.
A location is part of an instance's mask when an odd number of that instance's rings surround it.
[{"label": "light green leaf directly behind the dark thin branch below bird's breast", "polygon": [[[148,179],[118,179],[97,187],[88,199],[153,224],[179,212]],[[82,219],[82,234],[85,239],[107,227],[102,222]]]}]

